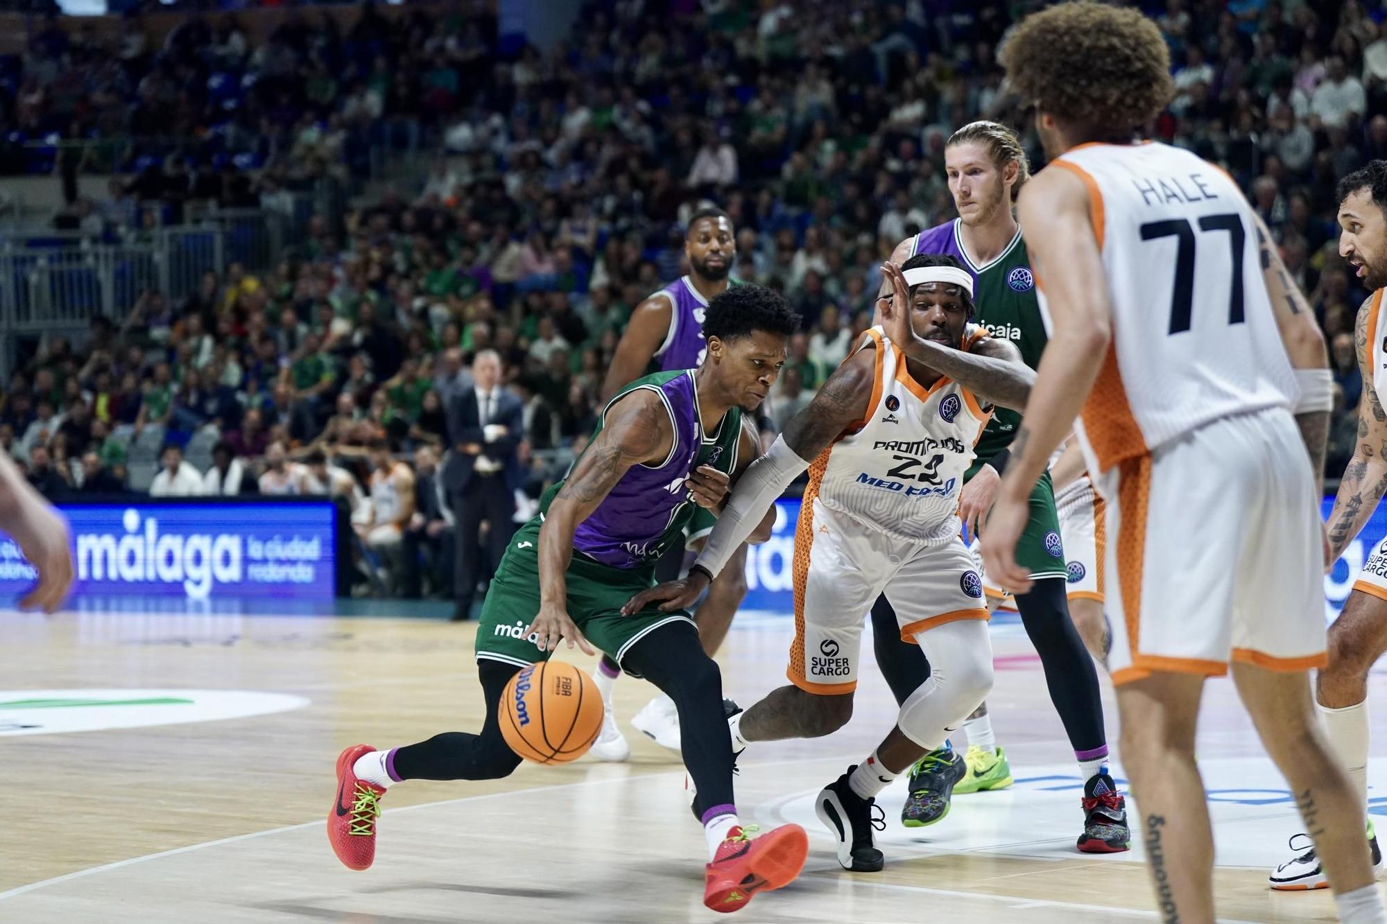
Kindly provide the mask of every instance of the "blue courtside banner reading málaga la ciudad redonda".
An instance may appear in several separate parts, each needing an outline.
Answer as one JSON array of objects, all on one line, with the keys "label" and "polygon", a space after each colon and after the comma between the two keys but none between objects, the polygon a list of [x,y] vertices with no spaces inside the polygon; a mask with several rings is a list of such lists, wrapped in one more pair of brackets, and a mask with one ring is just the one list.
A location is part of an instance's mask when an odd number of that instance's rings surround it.
[{"label": "blue courtside banner reading m\u00e1laga la ciudad redonda", "polygon": [[[60,505],[72,529],[83,598],[162,597],[190,602],[336,594],[337,509],[327,501]],[[32,587],[35,570],[0,533],[0,597]]]}]

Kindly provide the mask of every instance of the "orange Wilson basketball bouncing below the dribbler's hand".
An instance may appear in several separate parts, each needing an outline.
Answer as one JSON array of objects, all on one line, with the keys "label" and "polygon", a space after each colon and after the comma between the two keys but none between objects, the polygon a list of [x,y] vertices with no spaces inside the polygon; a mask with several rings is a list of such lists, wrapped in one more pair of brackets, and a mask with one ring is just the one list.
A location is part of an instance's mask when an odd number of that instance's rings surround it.
[{"label": "orange Wilson basketball bouncing below the dribbler's hand", "polygon": [[567,763],[588,752],[602,731],[602,694],[573,665],[530,665],[501,694],[501,734],[535,763]]}]

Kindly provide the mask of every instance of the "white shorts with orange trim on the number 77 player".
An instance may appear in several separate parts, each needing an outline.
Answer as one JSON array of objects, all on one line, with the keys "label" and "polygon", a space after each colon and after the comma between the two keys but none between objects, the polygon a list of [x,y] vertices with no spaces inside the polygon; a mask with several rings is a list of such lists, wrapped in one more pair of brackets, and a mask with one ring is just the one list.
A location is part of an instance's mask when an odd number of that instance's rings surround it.
[{"label": "white shorts with orange trim on the number 77 player", "polygon": [[1323,667],[1319,502],[1290,412],[1223,418],[1097,481],[1114,684]]}]

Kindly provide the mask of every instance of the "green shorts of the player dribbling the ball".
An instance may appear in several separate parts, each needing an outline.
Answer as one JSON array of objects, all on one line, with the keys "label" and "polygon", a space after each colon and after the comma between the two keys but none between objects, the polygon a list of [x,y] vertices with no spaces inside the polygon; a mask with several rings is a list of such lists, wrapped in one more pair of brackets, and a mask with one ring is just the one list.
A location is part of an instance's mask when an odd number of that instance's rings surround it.
[{"label": "green shorts of the player dribbling the ball", "polygon": [[[662,613],[653,606],[631,616],[621,615],[631,597],[653,584],[653,567],[612,567],[574,552],[567,572],[569,617],[594,648],[620,665],[631,645],[660,626],[694,623],[684,610]],[[481,602],[477,659],[490,658],[517,667],[548,660],[553,652],[540,651],[523,635],[538,612],[540,517],[534,517],[510,538]]]}]

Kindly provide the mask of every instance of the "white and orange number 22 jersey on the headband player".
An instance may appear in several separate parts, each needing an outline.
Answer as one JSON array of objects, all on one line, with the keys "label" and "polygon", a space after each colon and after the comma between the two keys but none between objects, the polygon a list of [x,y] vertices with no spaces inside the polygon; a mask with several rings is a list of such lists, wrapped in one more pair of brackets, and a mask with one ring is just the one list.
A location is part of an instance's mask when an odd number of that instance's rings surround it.
[{"label": "white and orange number 22 jersey on the headband player", "polygon": [[[958,493],[972,447],[992,418],[951,379],[925,388],[906,369],[900,348],[871,327],[875,384],[861,426],[810,466],[806,498],[906,542],[958,537]],[[986,336],[970,325],[964,348]],[[867,341],[860,347],[867,348]]]}]

